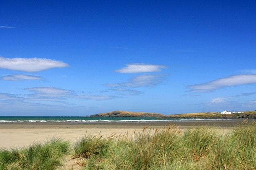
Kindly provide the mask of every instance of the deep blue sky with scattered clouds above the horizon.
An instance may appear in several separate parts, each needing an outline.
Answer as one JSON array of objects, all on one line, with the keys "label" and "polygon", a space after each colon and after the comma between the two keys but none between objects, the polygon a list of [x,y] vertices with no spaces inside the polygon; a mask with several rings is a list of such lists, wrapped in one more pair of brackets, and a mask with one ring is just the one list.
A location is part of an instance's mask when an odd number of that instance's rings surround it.
[{"label": "deep blue sky with scattered clouds above the horizon", "polygon": [[256,1],[0,1],[0,115],[256,110]]}]

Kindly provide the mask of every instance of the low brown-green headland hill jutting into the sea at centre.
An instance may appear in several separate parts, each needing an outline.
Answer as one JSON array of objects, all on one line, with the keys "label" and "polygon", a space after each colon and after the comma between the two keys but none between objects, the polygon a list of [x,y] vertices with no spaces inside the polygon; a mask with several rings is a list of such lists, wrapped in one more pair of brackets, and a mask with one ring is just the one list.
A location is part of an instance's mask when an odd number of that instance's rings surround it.
[{"label": "low brown-green headland hill jutting into the sea at centre", "polygon": [[107,113],[92,114],[91,116],[103,116],[103,117],[167,117],[164,114],[159,113],[145,113],[145,112],[130,112],[130,111],[111,111]]}]

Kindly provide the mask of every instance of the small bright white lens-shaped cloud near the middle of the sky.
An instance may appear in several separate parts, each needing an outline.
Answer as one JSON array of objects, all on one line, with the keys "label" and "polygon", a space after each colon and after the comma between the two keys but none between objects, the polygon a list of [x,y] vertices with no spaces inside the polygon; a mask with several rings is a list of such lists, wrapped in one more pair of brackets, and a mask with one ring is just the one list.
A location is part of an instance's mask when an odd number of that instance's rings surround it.
[{"label": "small bright white lens-shaped cloud near the middle of the sky", "polygon": [[127,67],[115,70],[119,73],[142,73],[142,72],[155,72],[160,71],[161,68],[167,68],[165,65],[154,65],[154,64],[126,64]]}]

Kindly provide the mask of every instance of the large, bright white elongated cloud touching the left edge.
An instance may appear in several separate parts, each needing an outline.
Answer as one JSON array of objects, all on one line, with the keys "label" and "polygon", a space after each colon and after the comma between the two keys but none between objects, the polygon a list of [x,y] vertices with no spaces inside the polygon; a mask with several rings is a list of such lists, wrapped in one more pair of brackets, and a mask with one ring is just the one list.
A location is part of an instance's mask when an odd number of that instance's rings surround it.
[{"label": "large, bright white elongated cloud touching the left edge", "polygon": [[68,67],[69,65],[57,60],[39,58],[4,58],[0,57],[0,68],[36,72],[55,67]]}]

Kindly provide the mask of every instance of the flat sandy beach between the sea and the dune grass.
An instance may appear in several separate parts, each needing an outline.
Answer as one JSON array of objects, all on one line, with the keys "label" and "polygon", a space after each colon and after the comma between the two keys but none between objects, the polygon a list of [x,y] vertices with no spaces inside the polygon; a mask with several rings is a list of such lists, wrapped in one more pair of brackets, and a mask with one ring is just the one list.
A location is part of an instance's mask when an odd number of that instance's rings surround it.
[{"label": "flat sandy beach between the sea and the dune grass", "polygon": [[[71,143],[86,133],[109,137],[113,133],[122,135],[134,130],[141,131],[144,127],[163,128],[170,124],[185,130],[194,126],[210,126],[220,133],[225,133],[241,124],[241,119],[231,120],[203,120],[203,121],[170,121],[170,122],[107,122],[107,123],[0,123],[0,147],[11,148],[28,146],[34,141],[45,141],[53,136],[70,140]],[[248,122],[256,120],[250,119]]]}]

